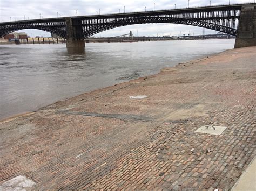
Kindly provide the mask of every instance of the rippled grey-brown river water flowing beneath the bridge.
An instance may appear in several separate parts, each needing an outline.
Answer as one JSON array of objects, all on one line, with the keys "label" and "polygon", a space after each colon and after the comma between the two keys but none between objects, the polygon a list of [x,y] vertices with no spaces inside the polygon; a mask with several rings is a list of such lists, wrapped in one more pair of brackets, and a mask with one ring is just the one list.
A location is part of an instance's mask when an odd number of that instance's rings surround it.
[{"label": "rippled grey-brown river water flowing beneath the bridge", "polygon": [[234,39],[0,45],[0,119],[234,47]]}]

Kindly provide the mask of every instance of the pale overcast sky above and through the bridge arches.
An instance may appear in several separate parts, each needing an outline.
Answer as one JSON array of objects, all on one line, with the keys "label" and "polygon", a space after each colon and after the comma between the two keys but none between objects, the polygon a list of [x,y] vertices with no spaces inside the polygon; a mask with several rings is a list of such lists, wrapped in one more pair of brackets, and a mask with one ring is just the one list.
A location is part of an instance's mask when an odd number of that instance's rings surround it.
[{"label": "pale overcast sky above and through the bridge arches", "polygon": [[[247,3],[254,2],[254,0],[230,0],[230,3]],[[174,9],[176,8],[186,8],[188,6],[188,1],[184,0],[138,0],[138,1],[116,1],[116,0],[102,0],[102,1],[89,1],[89,0],[0,0],[0,22],[6,22],[10,20],[24,20],[25,19],[37,19],[39,15],[43,18],[75,16],[76,10],[78,15],[96,15],[104,13],[118,13],[129,11],[145,11],[153,10],[155,3],[155,9]],[[211,0],[212,5],[228,4],[229,0]],[[210,0],[190,0],[190,7],[193,6],[206,6],[210,5]],[[118,27],[116,29],[111,29],[98,33],[95,36],[99,37],[109,37],[118,36],[121,34],[129,33],[132,31],[134,35],[139,36],[162,36],[171,35],[178,36],[180,33],[188,34],[202,34],[203,29],[196,26],[189,25],[179,25],[179,24],[137,24],[130,26]],[[22,30],[22,32],[28,33],[30,36],[50,36],[50,33],[39,30]],[[205,30],[206,34],[214,34],[215,31]]]}]

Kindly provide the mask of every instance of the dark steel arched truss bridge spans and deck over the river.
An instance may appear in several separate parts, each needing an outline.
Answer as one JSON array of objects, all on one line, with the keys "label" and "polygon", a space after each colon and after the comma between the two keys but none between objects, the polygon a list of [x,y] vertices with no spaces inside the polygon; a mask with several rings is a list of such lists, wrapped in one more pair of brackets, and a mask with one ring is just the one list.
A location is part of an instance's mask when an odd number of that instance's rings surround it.
[{"label": "dark steel arched truss bridge spans and deck over the river", "polygon": [[66,39],[83,40],[116,27],[145,23],[185,24],[237,36],[240,12],[244,5],[246,4],[3,22],[0,23],[0,37],[17,30],[38,29]]}]

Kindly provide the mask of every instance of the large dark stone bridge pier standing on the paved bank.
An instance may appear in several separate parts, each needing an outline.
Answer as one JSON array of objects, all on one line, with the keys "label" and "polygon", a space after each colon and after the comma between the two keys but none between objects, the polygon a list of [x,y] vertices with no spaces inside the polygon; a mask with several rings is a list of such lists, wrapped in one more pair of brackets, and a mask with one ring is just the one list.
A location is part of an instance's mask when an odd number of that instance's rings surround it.
[{"label": "large dark stone bridge pier standing on the paved bank", "polygon": [[243,5],[234,48],[256,46],[256,7]]}]

